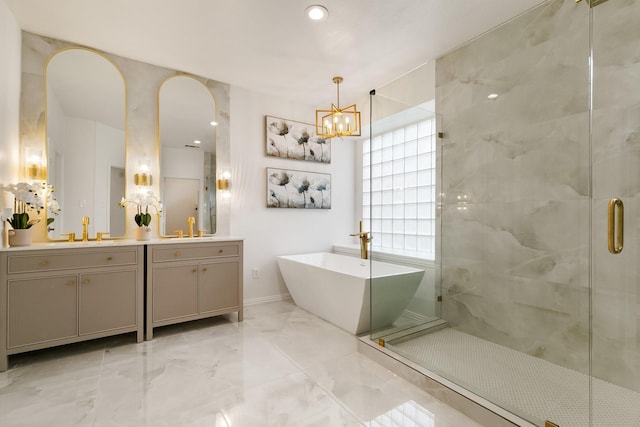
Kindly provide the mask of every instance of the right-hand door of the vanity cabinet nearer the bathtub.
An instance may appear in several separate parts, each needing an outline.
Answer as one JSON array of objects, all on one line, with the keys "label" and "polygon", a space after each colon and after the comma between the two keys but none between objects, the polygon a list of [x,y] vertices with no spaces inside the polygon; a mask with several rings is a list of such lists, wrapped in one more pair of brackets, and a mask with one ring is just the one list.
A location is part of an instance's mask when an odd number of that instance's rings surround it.
[{"label": "right-hand door of the vanity cabinet nearer the bathtub", "polygon": [[200,313],[238,307],[238,261],[211,262],[200,265]]}]

